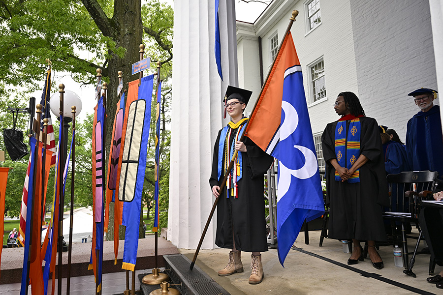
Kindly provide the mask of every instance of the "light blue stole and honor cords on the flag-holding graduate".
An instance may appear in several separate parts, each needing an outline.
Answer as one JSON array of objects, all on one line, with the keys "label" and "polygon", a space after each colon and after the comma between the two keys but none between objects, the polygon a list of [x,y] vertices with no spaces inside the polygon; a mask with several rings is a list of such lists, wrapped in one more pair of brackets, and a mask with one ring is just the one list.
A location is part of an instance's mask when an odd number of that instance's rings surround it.
[{"label": "light blue stole and honor cords on the flag-holding graduate", "polygon": [[[221,171],[227,173],[229,163],[235,152],[235,142],[238,141],[243,132],[245,131],[246,122],[248,118],[242,118],[237,123],[229,122],[223,129],[221,129],[220,140],[219,140],[219,154],[218,154],[218,179],[221,177]],[[233,137],[232,144],[229,145],[230,138]],[[233,196],[238,198],[238,186],[237,181],[242,178],[243,167],[242,163],[242,152],[238,151],[235,157],[235,163],[229,175],[226,179],[226,198]]]}]

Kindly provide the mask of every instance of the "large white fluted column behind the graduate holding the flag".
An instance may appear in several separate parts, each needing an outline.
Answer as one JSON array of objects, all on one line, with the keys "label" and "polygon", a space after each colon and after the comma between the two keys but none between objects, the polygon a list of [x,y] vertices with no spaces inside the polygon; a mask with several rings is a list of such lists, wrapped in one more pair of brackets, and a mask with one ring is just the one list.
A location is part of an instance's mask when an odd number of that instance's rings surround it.
[{"label": "large white fluted column behind the graduate holding the flag", "polygon": [[[212,208],[209,177],[221,99],[228,85],[238,85],[234,0],[220,0],[219,18],[224,82],[214,54],[214,0],[174,1],[168,239],[178,248],[197,247]],[[202,249],[214,248],[214,238],[215,221]]]}]

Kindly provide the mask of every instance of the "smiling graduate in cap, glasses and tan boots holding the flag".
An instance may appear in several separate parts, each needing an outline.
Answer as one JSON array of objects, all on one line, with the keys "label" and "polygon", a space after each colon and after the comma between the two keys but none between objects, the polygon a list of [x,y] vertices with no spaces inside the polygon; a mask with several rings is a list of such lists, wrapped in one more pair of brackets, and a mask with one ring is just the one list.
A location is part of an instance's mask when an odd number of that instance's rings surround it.
[{"label": "smiling graduate in cap, glasses and tan boots holding the flag", "polygon": [[[220,276],[243,271],[241,251],[252,252],[250,284],[263,279],[260,252],[268,251],[266,240],[264,174],[273,157],[256,146],[248,137],[241,142],[248,118],[243,111],[252,92],[229,86],[225,96],[225,110],[231,121],[219,131],[214,145],[212,173],[209,183],[212,193],[220,198],[217,205],[216,245],[229,248],[229,261]],[[221,181],[235,151],[238,155],[229,173],[226,186]]]}]

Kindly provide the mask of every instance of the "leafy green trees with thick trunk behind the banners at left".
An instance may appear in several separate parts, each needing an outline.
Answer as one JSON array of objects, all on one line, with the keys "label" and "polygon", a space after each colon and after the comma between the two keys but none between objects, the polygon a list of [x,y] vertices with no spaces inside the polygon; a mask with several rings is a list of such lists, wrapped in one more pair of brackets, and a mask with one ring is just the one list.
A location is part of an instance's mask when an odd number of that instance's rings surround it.
[{"label": "leafy green trees with thick trunk behind the banners at left", "polygon": [[[138,78],[138,75],[131,76],[131,64],[140,59],[139,44],[143,42],[145,57],[151,57],[153,66],[157,61],[162,63],[161,78],[167,85],[172,74],[172,28],[173,9],[159,0],[149,0],[143,5],[141,0],[0,0],[0,95],[17,87],[26,89],[20,94],[37,89],[44,79],[48,58],[52,61],[53,73],[68,72],[83,84],[95,84],[95,70],[101,68],[108,82],[106,132],[110,135],[118,101],[118,71],[123,71],[124,88],[127,88],[126,82]],[[167,100],[167,110],[171,86],[164,89],[162,95]],[[23,104],[27,106],[27,102]],[[3,118],[6,118],[4,106],[0,104],[0,121]],[[160,198],[167,203],[168,181],[165,178],[169,176],[169,133],[166,130],[168,118],[165,114],[162,118],[160,179],[164,183]],[[53,121],[57,141],[57,121]],[[86,206],[92,203],[92,116],[77,123],[76,129],[75,203]],[[111,136],[107,136],[108,151],[110,142]],[[151,142],[148,179],[153,171],[153,146]],[[27,166],[27,159],[20,163]],[[47,200],[52,200],[53,179],[52,172]],[[21,182],[18,187],[23,188],[24,176],[23,180],[17,177],[16,182]],[[149,191],[151,184],[148,180],[145,195],[153,195]],[[69,187],[70,176],[65,204],[68,204]],[[21,192],[13,195],[14,200],[21,200]]]}]

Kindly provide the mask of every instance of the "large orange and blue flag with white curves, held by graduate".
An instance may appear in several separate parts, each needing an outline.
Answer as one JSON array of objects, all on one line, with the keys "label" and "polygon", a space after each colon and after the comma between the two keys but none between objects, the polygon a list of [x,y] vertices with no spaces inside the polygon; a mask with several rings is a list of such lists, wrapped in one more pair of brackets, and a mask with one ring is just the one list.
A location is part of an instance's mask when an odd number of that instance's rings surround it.
[{"label": "large orange and blue flag with white curves, held by graduate", "polygon": [[279,159],[277,240],[283,266],[305,219],[324,213],[302,68],[290,31],[250,120],[246,135]]}]

